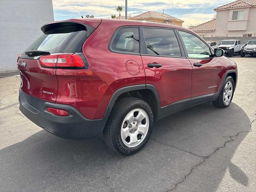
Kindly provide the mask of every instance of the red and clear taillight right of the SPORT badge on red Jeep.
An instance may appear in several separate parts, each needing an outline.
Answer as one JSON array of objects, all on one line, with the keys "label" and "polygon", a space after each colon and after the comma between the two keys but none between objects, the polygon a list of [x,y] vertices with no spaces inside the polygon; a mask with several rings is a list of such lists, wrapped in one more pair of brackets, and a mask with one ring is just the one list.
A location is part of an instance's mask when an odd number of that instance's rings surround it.
[{"label": "red and clear taillight right of the SPORT badge on red Jeep", "polygon": [[43,67],[84,67],[84,62],[78,54],[45,55],[40,57]]}]

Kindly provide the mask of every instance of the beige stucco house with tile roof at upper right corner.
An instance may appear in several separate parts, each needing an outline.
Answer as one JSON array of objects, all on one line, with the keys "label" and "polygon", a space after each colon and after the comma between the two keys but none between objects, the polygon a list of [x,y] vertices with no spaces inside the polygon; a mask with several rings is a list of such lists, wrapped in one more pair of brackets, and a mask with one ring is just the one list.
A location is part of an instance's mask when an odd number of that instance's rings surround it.
[{"label": "beige stucco house with tile roof at upper right corner", "polygon": [[202,37],[256,36],[256,0],[236,0],[214,11],[216,19],[189,29]]}]

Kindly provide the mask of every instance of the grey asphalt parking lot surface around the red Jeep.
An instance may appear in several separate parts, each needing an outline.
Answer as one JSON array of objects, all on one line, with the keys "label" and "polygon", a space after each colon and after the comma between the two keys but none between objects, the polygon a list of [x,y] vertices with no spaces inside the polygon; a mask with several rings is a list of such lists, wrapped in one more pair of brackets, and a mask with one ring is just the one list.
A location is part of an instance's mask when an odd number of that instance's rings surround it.
[{"label": "grey asphalt parking lot surface around the red Jeep", "polygon": [[[230,107],[201,104],[158,122],[135,155],[102,138],[66,140],[18,109],[20,77],[0,78],[0,191],[252,192],[256,189],[256,56],[234,56]],[[12,74],[14,75],[14,74]]]}]

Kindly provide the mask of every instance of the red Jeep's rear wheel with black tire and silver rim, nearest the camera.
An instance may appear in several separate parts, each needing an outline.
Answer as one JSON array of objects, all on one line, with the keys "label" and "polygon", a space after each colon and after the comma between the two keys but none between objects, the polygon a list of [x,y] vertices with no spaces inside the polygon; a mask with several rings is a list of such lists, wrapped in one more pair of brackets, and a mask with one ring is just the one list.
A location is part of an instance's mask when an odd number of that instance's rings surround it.
[{"label": "red Jeep's rear wheel with black tire and silver rim, nearest the camera", "polygon": [[154,118],[149,104],[138,98],[116,102],[103,135],[109,148],[131,155],[141,150],[150,138]]}]

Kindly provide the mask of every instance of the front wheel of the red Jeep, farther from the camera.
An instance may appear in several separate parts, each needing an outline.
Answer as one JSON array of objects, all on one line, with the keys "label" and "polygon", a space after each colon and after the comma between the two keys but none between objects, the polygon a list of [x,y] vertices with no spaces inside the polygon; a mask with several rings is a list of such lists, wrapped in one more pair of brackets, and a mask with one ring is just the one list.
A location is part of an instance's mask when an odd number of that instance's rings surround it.
[{"label": "front wheel of the red Jeep, farther from the camera", "polygon": [[235,83],[231,76],[227,76],[220,90],[218,98],[212,104],[218,108],[226,108],[230,105],[234,95]]}]

